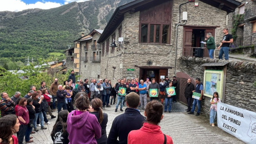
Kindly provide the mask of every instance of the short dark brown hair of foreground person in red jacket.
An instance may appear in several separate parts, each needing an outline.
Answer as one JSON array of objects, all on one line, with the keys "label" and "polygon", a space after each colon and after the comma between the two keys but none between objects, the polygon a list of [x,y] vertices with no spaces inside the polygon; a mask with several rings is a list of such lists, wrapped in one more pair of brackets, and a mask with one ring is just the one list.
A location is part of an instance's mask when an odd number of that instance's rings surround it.
[{"label": "short dark brown hair of foreground person in red jacket", "polygon": [[163,105],[157,100],[147,103],[145,113],[147,115],[147,122],[157,125],[161,121],[163,115]]}]

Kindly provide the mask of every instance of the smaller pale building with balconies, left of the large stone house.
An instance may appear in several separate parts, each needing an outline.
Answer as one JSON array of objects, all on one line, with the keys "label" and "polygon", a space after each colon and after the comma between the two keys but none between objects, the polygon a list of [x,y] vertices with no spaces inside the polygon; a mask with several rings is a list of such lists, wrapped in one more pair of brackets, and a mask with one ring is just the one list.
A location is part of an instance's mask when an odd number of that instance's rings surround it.
[{"label": "smaller pale building with balconies, left of the large stone house", "polygon": [[102,31],[93,29],[74,41],[74,71],[80,79],[100,77],[101,45],[97,41]]}]

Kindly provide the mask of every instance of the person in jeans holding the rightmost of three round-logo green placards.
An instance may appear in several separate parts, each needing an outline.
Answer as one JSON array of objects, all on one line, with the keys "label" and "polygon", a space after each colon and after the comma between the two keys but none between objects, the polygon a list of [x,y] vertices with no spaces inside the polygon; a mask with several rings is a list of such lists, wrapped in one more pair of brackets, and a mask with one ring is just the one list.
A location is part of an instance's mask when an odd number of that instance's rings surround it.
[{"label": "person in jeans holding the rightmost of three round-logo green placards", "polygon": [[169,102],[168,106],[168,112],[171,113],[171,108],[172,108],[172,99],[176,95],[175,92],[175,87],[172,86],[172,82],[169,82],[169,85],[165,87],[165,104],[164,104],[164,113],[167,111],[167,105]]}]

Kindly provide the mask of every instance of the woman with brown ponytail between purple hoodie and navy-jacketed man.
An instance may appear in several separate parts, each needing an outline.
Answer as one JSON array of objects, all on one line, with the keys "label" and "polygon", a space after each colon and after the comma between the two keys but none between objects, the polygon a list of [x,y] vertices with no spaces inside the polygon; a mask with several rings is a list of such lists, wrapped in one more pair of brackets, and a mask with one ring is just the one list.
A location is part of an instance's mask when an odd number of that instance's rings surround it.
[{"label": "woman with brown ponytail between purple hoodie and navy-jacketed man", "polygon": [[102,112],[102,101],[98,98],[92,99],[91,106],[89,106],[90,113],[95,115],[98,119],[98,122],[101,126],[101,138],[96,139],[98,144],[103,144],[107,142],[107,123],[108,123],[108,114]]}]

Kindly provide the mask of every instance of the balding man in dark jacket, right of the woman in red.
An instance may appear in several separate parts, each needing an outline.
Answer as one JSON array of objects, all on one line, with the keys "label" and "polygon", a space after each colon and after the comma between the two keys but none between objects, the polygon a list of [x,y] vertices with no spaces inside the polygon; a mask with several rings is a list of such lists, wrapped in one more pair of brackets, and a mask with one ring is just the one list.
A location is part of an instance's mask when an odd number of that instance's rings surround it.
[{"label": "balding man in dark jacket, right of the woman in red", "polygon": [[62,85],[58,85],[58,91],[57,91],[57,107],[58,107],[58,113],[61,111],[61,108],[63,107],[63,110],[68,109],[67,103],[65,101],[67,93],[62,90]]}]

